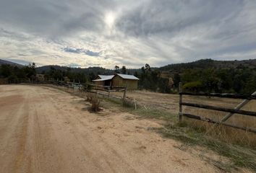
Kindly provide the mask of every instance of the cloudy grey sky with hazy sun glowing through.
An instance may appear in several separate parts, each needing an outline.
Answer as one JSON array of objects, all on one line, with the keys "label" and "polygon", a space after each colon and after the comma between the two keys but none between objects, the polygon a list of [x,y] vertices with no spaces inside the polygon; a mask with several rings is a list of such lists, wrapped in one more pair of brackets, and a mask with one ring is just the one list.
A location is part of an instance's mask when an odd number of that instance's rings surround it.
[{"label": "cloudy grey sky with hazy sun glowing through", "polygon": [[256,0],[0,0],[0,59],[127,66],[256,58]]}]

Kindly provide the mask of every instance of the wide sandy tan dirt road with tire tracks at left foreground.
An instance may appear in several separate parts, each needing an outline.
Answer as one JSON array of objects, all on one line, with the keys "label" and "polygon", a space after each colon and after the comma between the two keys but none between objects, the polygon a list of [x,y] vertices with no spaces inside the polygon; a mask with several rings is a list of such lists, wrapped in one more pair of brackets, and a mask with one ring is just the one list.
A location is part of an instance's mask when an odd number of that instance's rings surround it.
[{"label": "wide sandy tan dirt road with tire tracks at left foreground", "polygon": [[0,172],[219,172],[150,132],[152,120],[88,107],[46,86],[0,86]]}]

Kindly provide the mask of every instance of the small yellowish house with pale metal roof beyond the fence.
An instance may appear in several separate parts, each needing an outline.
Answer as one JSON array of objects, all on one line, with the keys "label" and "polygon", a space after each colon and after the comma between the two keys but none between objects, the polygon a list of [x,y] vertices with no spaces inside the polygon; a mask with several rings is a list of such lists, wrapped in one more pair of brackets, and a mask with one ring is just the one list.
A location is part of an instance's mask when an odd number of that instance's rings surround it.
[{"label": "small yellowish house with pale metal roof beyond the fence", "polygon": [[98,75],[95,80],[96,85],[104,87],[118,87],[127,86],[127,89],[137,89],[138,78],[128,74],[115,74],[115,75]]}]

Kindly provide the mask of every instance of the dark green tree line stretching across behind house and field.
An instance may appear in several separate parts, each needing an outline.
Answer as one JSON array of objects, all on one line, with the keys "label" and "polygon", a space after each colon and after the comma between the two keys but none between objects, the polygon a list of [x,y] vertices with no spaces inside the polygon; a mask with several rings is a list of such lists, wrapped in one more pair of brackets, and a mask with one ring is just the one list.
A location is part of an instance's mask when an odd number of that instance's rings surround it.
[{"label": "dark green tree line stretching across behind house and field", "polygon": [[[74,81],[81,84],[90,83],[98,74],[99,68],[90,71],[73,71],[72,68],[57,69],[54,66],[48,71],[41,71],[47,81]],[[133,69],[133,73],[125,66],[114,66],[113,70],[106,70],[103,74],[133,74],[140,80],[138,89],[153,92],[177,93],[179,82],[182,81],[183,89],[189,92],[229,92],[251,94],[256,90],[256,68],[237,66],[235,68],[187,68],[182,71],[168,71],[170,78],[161,76],[161,68],[151,68],[148,63],[140,69]],[[36,81],[35,63],[30,63],[22,68],[3,64],[0,66],[0,78],[9,82],[19,80]]]}]

